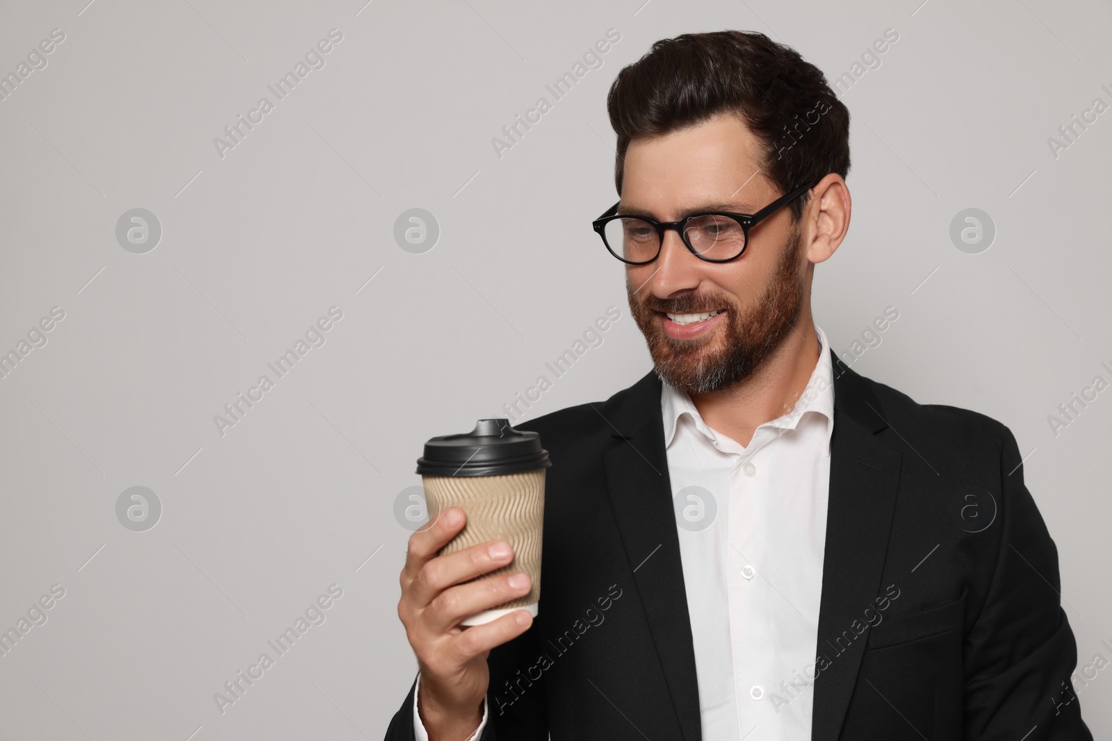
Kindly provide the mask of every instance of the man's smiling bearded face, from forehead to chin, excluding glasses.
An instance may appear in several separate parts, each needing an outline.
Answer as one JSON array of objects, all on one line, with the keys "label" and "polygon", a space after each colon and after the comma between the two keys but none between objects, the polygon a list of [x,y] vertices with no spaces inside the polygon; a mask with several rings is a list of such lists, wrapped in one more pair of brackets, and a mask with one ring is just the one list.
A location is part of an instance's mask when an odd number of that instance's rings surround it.
[{"label": "man's smiling bearded face, from forehead to chin, excluding glasses", "polygon": [[[741,119],[726,114],[635,139],[626,152],[618,213],[657,221],[695,211],[754,213],[783,194],[757,172],[757,144]],[[654,262],[626,266],[629,310],[657,373],[688,394],[747,378],[793,331],[806,303],[802,247],[802,231],[792,228],[785,206],[749,230],[744,254],[732,262],[701,260],[668,230]],[[719,313],[691,323],[691,317],[676,317],[705,312]]]}]

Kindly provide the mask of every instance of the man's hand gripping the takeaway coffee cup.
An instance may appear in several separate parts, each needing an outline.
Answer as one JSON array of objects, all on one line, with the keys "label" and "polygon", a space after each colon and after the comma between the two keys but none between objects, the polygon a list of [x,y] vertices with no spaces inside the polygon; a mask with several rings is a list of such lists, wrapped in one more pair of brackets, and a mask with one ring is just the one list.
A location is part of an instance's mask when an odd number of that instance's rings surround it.
[{"label": "man's hand gripping the takeaway coffee cup", "polygon": [[430,528],[410,535],[401,570],[398,617],[420,667],[418,713],[429,741],[464,741],[475,732],[490,683],[487,654],[533,624],[528,611],[516,610],[484,625],[457,625],[467,615],[522,597],[532,587],[526,573],[485,575],[514,560],[505,541],[437,557],[465,521],[464,511],[453,507]]}]

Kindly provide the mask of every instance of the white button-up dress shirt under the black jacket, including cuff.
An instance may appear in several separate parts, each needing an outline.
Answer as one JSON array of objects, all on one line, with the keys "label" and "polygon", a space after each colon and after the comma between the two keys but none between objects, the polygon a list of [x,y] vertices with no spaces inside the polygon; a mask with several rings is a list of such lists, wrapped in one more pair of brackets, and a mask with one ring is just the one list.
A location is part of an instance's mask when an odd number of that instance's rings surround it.
[{"label": "white button-up dress shirt under the black jacket, including cuff", "polygon": [[[794,409],[748,445],[661,392],[704,741],[810,741],[834,381],[826,334]],[[418,684],[419,684],[418,674]],[[487,722],[468,739],[474,741]],[[428,733],[417,712],[418,741]]]}]

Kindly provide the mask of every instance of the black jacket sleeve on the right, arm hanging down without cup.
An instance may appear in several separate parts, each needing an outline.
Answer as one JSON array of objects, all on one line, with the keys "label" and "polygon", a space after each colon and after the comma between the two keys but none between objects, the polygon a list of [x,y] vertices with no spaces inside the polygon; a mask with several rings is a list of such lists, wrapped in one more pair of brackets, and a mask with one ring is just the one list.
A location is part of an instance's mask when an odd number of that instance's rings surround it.
[{"label": "black jacket sleeve on the right, arm hanging down without cup", "polygon": [[1002,443],[1001,535],[987,597],[966,637],[964,735],[1092,741],[1070,679],[1078,649],[1061,605],[1058,549],[1006,428]]}]

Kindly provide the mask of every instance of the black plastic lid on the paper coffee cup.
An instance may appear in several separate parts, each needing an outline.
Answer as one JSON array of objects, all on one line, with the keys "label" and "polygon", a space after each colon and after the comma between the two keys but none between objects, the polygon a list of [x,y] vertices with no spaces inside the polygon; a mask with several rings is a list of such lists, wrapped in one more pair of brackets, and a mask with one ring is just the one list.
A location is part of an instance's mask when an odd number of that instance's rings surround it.
[{"label": "black plastic lid on the paper coffee cup", "polygon": [[425,443],[417,459],[421,475],[500,475],[548,468],[540,435],[515,430],[505,418],[479,420],[470,432],[440,434]]}]

